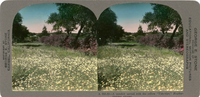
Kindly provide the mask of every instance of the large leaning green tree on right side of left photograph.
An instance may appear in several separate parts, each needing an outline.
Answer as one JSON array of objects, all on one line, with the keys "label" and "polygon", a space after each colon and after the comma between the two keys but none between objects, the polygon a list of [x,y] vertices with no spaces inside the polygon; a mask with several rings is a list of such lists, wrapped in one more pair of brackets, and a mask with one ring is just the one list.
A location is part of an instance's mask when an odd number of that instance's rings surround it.
[{"label": "large leaning green tree on right side of left photograph", "polygon": [[84,6],[68,3],[57,3],[56,5],[58,6],[59,13],[52,13],[47,23],[55,23],[55,29],[59,27],[65,28],[68,34],[77,29],[78,25],[80,29],[75,37],[75,43],[83,29],[93,26],[96,21],[93,12]]}]

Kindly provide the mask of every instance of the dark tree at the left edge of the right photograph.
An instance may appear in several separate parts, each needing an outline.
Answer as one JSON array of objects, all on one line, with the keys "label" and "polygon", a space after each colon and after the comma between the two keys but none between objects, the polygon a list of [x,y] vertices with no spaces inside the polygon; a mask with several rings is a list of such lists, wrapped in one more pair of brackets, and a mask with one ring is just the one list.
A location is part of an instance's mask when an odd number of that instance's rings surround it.
[{"label": "dark tree at the left edge of the right photograph", "polygon": [[123,35],[124,30],[116,22],[117,16],[110,8],[105,9],[101,13],[96,23],[97,42],[99,46],[107,44],[107,39],[119,40]]}]

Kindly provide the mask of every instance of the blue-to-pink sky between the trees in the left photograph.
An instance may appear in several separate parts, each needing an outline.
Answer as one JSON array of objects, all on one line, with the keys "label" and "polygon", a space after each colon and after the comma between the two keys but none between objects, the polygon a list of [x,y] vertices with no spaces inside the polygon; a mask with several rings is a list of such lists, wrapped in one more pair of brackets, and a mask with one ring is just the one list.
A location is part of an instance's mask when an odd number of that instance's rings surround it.
[{"label": "blue-to-pink sky between the trees in the left photograph", "polygon": [[51,24],[45,23],[51,13],[58,13],[57,6],[53,3],[34,4],[24,7],[19,11],[22,16],[22,25],[25,25],[30,32],[40,33],[44,26],[47,31],[52,30]]}]

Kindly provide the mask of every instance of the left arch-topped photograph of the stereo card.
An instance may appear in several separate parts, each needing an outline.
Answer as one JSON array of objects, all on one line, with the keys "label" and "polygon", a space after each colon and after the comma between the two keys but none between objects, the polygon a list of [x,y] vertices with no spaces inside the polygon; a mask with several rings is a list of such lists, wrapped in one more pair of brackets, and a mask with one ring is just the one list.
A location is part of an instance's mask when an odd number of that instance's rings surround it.
[{"label": "left arch-topped photograph of the stereo card", "polygon": [[13,91],[98,91],[96,17],[69,3],[27,6],[12,26]]}]

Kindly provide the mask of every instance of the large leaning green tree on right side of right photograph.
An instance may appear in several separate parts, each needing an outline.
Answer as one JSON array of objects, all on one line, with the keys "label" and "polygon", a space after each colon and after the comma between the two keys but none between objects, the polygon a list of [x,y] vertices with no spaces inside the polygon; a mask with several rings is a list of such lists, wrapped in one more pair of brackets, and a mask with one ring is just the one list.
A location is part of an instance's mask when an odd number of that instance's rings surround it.
[{"label": "large leaning green tree on right side of right photograph", "polygon": [[152,4],[152,6],[154,12],[147,12],[141,22],[149,23],[148,29],[151,30],[157,27],[160,28],[160,31],[163,34],[160,40],[164,37],[168,30],[173,29],[173,26],[175,26],[170,37],[170,41],[172,41],[176,30],[182,25],[180,15],[177,11],[168,6],[160,4]]}]

